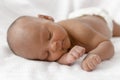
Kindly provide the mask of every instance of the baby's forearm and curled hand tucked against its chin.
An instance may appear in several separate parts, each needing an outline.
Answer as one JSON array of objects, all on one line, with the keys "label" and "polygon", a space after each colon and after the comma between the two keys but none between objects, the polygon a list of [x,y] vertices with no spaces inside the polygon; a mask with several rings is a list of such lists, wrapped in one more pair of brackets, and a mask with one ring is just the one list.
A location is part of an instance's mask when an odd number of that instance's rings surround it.
[{"label": "baby's forearm and curled hand tucked against its chin", "polygon": [[85,48],[74,46],[68,53],[64,54],[57,62],[60,64],[72,64],[85,53]]}]

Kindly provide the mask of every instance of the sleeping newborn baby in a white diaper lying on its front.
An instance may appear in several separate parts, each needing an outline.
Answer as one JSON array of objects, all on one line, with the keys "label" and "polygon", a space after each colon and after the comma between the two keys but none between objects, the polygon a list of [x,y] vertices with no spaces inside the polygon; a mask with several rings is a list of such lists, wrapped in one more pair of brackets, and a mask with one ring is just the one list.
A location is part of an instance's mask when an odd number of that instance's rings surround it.
[{"label": "sleeping newborn baby in a white diaper lying on its front", "polygon": [[[7,40],[18,56],[42,61],[73,64],[84,54],[81,63],[85,71],[94,70],[102,61],[114,55],[110,41],[120,36],[120,26],[99,9],[78,11],[72,18],[54,22],[51,16],[21,16],[8,29]],[[98,10],[98,12],[97,12]],[[102,14],[99,14],[99,11]]]}]

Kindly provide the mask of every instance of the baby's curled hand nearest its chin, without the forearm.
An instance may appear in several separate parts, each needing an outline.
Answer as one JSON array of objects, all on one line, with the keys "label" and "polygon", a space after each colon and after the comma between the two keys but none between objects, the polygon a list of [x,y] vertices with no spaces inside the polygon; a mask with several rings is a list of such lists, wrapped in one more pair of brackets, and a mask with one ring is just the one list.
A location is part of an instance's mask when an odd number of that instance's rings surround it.
[{"label": "baby's curled hand nearest its chin, without the forearm", "polygon": [[66,56],[66,60],[69,64],[74,63],[85,53],[85,48],[81,46],[74,46]]}]

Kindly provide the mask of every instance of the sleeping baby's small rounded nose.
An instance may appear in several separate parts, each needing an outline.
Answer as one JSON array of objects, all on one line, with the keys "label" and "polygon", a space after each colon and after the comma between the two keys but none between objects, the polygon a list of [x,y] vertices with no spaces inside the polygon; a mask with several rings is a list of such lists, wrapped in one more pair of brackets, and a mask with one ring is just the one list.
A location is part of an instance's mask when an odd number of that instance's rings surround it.
[{"label": "sleeping baby's small rounded nose", "polygon": [[62,49],[62,42],[61,41],[55,41],[55,42],[51,43],[50,49],[53,52],[61,50]]}]

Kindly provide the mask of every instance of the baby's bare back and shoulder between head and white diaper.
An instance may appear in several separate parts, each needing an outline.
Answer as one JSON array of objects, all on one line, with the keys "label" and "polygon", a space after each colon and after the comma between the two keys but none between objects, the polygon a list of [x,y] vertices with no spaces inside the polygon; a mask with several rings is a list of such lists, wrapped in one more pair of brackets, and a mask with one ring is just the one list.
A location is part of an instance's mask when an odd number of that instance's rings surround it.
[{"label": "baby's bare back and shoulder between head and white diaper", "polygon": [[87,52],[97,47],[102,41],[111,38],[106,22],[101,17],[83,16],[61,23],[65,25],[68,34],[71,36],[73,46],[83,46]]}]

